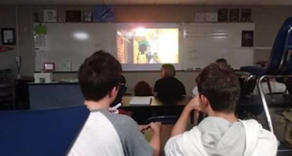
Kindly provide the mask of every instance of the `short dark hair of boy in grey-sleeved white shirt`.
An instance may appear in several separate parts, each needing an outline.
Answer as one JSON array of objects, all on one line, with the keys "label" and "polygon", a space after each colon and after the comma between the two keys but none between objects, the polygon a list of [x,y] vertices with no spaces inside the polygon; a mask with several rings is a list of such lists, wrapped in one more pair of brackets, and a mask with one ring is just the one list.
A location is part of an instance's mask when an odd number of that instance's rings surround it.
[{"label": "short dark hair of boy in grey-sleeved white shirt", "polygon": [[110,53],[94,52],[80,66],[78,79],[86,100],[98,101],[105,97],[121,80],[122,67]]}]

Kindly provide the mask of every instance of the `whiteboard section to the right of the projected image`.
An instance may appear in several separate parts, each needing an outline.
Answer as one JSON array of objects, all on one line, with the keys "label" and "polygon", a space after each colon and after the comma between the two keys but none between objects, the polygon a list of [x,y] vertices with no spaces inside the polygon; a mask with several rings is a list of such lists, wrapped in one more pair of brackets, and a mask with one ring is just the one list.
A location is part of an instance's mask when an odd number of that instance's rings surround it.
[{"label": "whiteboard section to the right of the projected image", "polygon": [[242,31],[254,23],[183,23],[183,69],[202,69],[219,58],[234,69],[254,64],[254,48],[241,47]]}]

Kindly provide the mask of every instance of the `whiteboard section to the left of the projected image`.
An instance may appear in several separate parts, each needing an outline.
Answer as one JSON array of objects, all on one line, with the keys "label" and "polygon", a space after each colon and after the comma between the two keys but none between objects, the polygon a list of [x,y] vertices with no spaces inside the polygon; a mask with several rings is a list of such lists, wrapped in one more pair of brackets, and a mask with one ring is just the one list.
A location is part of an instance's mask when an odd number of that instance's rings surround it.
[{"label": "whiteboard section to the left of the projected image", "polygon": [[[34,25],[38,25],[35,23]],[[44,62],[54,62],[55,70],[62,71],[61,64],[71,61],[71,70],[77,71],[93,52],[105,50],[116,55],[116,28],[111,23],[45,23],[45,46],[35,43],[36,71]]]}]

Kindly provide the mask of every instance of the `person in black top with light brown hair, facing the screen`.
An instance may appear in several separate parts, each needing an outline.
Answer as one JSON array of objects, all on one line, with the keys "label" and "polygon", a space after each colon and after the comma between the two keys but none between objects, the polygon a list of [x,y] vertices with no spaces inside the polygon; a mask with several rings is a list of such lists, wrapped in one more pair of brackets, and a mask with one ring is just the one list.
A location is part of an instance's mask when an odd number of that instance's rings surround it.
[{"label": "person in black top with light brown hair, facing the screen", "polygon": [[185,95],[183,83],[176,79],[175,68],[172,64],[164,64],[160,70],[161,79],[154,85],[154,95],[162,98],[177,98]]}]

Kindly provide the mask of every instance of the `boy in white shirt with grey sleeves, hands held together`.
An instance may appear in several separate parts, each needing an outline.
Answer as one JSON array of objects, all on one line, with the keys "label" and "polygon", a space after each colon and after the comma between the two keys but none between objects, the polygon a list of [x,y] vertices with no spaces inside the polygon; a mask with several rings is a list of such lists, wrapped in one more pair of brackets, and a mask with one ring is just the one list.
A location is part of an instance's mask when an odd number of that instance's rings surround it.
[{"label": "boy in white shirt with grey sleeves, hands held together", "polygon": [[[159,155],[159,122],[138,127],[130,117],[108,111],[119,89],[121,71],[121,64],[103,51],[93,53],[81,65],[78,79],[91,113],[69,156]],[[146,128],[153,132],[149,143],[140,132]]]}]

